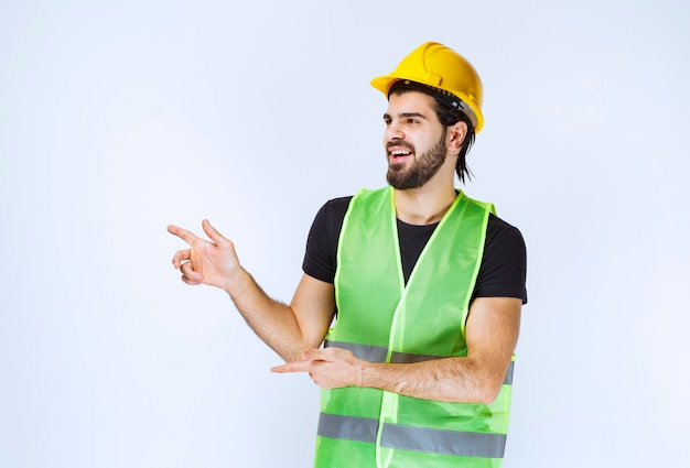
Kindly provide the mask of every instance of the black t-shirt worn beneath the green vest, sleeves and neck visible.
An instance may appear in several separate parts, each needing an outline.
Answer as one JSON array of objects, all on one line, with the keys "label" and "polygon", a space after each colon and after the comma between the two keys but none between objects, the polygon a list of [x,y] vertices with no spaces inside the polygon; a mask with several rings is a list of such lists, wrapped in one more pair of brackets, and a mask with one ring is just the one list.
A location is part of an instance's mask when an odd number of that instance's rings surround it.
[{"label": "black t-shirt worn beneath the green vest, sleeves and neck visible", "polygon": [[[328,200],[316,214],[302,263],[302,270],[310,276],[333,283],[337,242],[351,199],[352,197],[343,197]],[[406,282],[436,226],[438,224],[414,226],[398,220]],[[527,303],[527,253],[520,231],[497,216],[489,215],[485,242],[473,298],[517,297]]]}]

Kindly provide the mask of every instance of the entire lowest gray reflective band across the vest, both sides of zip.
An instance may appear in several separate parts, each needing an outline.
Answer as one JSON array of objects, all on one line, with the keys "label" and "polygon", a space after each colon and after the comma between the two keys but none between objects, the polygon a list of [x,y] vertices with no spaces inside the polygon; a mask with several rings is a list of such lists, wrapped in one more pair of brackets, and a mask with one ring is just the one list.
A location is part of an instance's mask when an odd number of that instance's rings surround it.
[{"label": "entire lowest gray reflective band across the vest, both sides of zip", "polygon": [[[316,434],[321,437],[375,444],[377,428],[377,420],[321,413]],[[503,458],[506,435],[385,424],[381,446],[432,454]]]}]

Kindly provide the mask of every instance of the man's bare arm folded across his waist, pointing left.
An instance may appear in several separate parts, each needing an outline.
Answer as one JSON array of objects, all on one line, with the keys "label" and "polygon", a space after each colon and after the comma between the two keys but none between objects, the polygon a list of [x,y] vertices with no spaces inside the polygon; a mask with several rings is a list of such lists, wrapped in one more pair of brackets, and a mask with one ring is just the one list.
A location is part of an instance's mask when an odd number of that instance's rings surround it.
[{"label": "man's bare arm folded across his waist, pointing left", "polygon": [[310,372],[327,389],[370,387],[427,400],[489,403],[496,399],[517,344],[521,300],[478,297],[471,306],[467,357],[417,363],[373,363],[337,349],[313,349],[274,372]]}]

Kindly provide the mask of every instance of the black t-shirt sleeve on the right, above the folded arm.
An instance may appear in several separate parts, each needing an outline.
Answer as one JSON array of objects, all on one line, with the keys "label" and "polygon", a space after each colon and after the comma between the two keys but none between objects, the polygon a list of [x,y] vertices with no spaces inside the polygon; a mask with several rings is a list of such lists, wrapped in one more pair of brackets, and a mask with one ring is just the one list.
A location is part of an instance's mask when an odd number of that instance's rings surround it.
[{"label": "black t-shirt sleeve on the right, above the folded arm", "polygon": [[520,231],[492,215],[474,297],[517,297],[527,303],[527,249]]}]

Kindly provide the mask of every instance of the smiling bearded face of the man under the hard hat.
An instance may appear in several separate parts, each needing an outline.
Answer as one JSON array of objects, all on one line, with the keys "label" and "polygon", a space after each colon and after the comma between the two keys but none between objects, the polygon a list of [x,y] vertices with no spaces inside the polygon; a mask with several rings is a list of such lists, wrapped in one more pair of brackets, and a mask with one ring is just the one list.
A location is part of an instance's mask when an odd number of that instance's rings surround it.
[{"label": "smiling bearded face of the man under the hard hat", "polygon": [[419,188],[445,162],[445,132],[434,110],[434,99],[423,92],[391,95],[384,115],[386,179],[397,189]]}]

